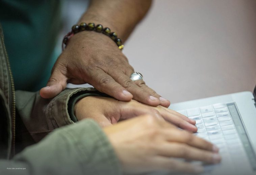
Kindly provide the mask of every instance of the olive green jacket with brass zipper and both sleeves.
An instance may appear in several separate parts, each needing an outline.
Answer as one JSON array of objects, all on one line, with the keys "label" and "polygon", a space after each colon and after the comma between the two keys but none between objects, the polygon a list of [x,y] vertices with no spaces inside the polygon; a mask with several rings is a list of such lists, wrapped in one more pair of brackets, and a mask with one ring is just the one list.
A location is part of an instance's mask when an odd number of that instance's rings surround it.
[{"label": "olive green jacket with brass zipper and both sleeves", "polygon": [[0,174],[121,174],[100,126],[92,119],[75,123],[69,115],[74,97],[96,91],[65,90],[50,100],[38,92],[15,92],[1,26],[0,34]]}]

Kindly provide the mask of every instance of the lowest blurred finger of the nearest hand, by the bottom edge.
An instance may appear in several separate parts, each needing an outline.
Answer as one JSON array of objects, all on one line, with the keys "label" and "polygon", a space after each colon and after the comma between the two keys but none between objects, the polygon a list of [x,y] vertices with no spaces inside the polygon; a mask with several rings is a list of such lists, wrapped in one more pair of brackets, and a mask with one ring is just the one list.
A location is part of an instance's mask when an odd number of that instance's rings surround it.
[{"label": "lowest blurred finger of the nearest hand, by the bottom edge", "polygon": [[169,157],[157,156],[152,162],[152,171],[168,171],[170,173],[201,173],[204,171],[204,168],[200,165],[193,165]]}]

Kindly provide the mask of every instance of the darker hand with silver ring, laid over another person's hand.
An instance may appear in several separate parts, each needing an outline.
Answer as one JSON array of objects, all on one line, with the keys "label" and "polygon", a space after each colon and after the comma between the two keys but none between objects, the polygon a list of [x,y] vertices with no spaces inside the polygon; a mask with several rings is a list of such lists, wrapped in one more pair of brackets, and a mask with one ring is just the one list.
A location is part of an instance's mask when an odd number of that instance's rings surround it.
[{"label": "darker hand with silver ring, laid over another person's hand", "polygon": [[98,91],[121,101],[134,99],[151,106],[170,105],[143,80],[132,81],[130,75],[133,72],[125,55],[108,36],[83,31],[70,38],[40,95],[52,98],[66,88],[67,82],[89,83]]}]

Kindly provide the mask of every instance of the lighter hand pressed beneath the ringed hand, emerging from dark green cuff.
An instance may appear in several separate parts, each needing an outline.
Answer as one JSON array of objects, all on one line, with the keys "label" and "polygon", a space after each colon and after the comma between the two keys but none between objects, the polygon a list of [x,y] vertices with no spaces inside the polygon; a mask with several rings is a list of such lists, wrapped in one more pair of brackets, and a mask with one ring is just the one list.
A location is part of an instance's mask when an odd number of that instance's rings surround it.
[{"label": "lighter hand pressed beneath the ringed hand, emerging from dark green cuff", "polygon": [[113,98],[89,96],[76,103],[74,113],[78,120],[93,118],[102,127],[142,114],[158,115],[182,129],[190,132],[197,131],[195,120],[191,120],[174,110],[162,106],[148,106],[135,100],[123,102]]}]

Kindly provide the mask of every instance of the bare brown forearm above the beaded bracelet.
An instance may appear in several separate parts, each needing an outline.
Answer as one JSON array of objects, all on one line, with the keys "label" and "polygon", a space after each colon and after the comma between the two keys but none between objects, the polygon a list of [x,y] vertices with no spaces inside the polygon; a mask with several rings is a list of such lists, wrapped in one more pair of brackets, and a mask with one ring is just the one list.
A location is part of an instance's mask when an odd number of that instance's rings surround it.
[{"label": "bare brown forearm above the beaded bracelet", "polygon": [[92,0],[78,23],[94,22],[109,27],[124,42],[150,5],[151,0]]}]

